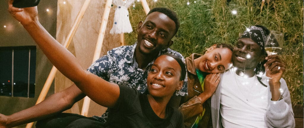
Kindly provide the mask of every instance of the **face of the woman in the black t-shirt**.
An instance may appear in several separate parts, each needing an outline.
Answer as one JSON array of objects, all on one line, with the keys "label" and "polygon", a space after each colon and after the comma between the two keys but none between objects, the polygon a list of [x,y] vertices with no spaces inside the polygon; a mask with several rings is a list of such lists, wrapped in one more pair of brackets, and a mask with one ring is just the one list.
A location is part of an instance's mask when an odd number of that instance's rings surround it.
[{"label": "face of the woman in the black t-shirt", "polygon": [[171,56],[159,56],[154,61],[147,77],[149,93],[153,97],[171,97],[183,85],[180,78],[181,66],[178,62]]}]

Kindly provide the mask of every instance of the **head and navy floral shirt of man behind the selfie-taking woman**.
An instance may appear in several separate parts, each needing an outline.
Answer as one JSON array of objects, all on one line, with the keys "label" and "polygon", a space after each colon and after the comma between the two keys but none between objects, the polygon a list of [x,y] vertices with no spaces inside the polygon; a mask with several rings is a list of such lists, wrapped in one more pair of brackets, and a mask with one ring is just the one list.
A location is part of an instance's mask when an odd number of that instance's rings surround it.
[{"label": "head and navy floral shirt of man behind the selfie-taking woman", "polygon": [[[144,93],[147,90],[147,72],[158,56],[172,53],[185,61],[180,53],[168,48],[173,43],[171,39],[178,27],[179,22],[174,12],[167,8],[154,8],[149,12],[146,20],[138,24],[139,34],[135,44],[108,51],[107,55],[95,61],[88,71],[109,82],[136,88]],[[187,78],[184,83],[187,83]],[[186,86],[175,95],[187,95]],[[94,118],[105,122],[107,111],[102,117],[94,116]]]}]

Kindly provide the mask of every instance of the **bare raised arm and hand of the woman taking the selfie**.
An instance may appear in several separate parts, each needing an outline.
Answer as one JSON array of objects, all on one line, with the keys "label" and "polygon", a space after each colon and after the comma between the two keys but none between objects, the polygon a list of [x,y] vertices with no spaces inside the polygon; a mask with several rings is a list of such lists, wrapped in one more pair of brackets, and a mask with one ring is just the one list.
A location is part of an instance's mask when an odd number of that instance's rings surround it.
[{"label": "bare raised arm and hand of the woman taking the selfie", "polygon": [[57,42],[40,24],[37,18],[37,7],[15,8],[9,1],[9,12],[33,37],[37,45],[67,78],[96,103],[113,107],[119,97],[119,87],[86,71],[77,62],[75,56]]}]

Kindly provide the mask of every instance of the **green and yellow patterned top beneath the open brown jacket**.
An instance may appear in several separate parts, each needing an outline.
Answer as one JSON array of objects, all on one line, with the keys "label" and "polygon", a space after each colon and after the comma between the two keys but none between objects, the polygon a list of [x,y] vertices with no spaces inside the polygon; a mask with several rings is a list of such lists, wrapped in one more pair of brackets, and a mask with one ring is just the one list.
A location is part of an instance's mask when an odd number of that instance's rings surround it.
[{"label": "green and yellow patterned top beneath the open brown jacket", "polygon": [[[201,83],[202,91],[204,91],[204,79],[206,78],[207,73],[202,72],[199,69],[195,69],[195,71],[196,71],[197,77],[199,78],[199,82]],[[197,128],[199,126],[199,121],[202,120],[202,118],[205,114],[205,111],[206,111],[206,109],[203,108],[203,112],[196,117],[196,120],[192,124],[191,128]]]}]

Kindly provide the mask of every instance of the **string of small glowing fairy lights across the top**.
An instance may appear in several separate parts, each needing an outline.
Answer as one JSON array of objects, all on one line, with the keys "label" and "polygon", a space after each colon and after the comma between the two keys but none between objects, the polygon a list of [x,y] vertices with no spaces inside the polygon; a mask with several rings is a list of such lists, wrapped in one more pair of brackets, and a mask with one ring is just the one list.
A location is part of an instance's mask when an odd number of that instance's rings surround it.
[{"label": "string of small glowing fairy lights across the top", "polygon": [[[135,1],[137,1],[137,2],[140,2],[140,0],[135,0]],[[133,10],[135,9],[135,1],[133,2]],[[152,0],[153,2],[157,2],[158,0]],[[195,1],[189,1],[189,0],[187,0],[186,1],[186,5],[191,5],[191,4],[196,4],[196,3],[198,3],[198,1],[200,1],[200,0],[195,0]],[[126,2],[126,1],[125,1]],[[62,4],[67,4],[67,2],[66,1],[63,1],[62,2]],[[52,13],[52,9],[50,9],[50,8],[46,8],[45,9],[45,11],[47,12],[47,13]],[[233,15],[236,15],[237,14],[237,10],[232,10],[231,11],[231,14],[233,14]],[[12,30],[12,28],[13,28],[13,26],[12,26],[12,24],[10,24],[10,23],[7,23],[7,24],[3,24],[3,27],[5,28],[5,29],[8,29],[8,30]]]}]

